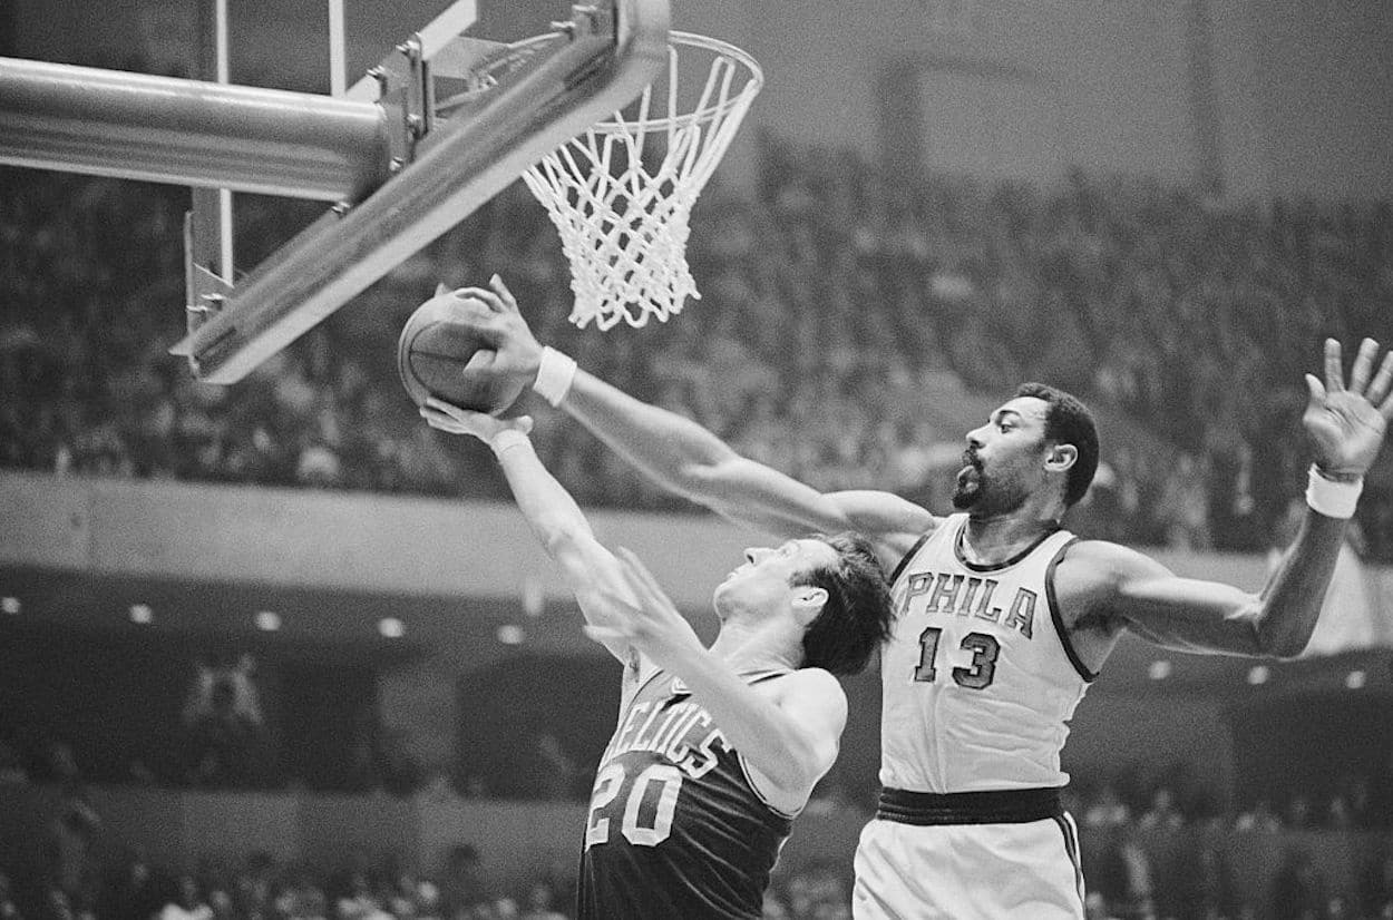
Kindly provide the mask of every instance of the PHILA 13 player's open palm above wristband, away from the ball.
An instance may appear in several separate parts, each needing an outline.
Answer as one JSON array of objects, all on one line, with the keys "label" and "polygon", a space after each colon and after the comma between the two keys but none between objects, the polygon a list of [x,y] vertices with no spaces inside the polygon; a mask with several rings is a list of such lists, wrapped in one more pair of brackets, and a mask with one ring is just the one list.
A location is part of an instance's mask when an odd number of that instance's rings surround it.
[{"label": "PHILA 13 player's open palm above wristband, away from the ball", "polygon": [[[1332,476],[1362,476],[1383,445],[1389,419],[1393,418],[1393,352],[1373,373],[1379,344],[1365,338],[1350,369],[1346,386],[1340,360],[1340,342],[1325,340],[1325,383],[1307,374],[1307,401],[1301,425],[1315,448],[1315,462]],[[1372,374],[1372,379],[1371,379]]]}]

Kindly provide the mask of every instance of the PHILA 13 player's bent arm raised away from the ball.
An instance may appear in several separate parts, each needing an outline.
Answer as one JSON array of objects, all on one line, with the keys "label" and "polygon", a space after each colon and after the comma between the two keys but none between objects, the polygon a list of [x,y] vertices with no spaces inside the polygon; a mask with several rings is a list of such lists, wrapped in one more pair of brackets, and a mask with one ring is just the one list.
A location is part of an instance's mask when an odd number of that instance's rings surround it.
[{"label": "PHILA 13 player's bent arm raised away from the ball", "polygon": [[1307,374],[1309,401],[1301,422],[1315,448],[1308,508],[1295,541],[1259,593],[1178,578],[1114,544],[1082,543],[1057,572],[1061,600],[1080,590],[1081,608],[1092,607],[1106,622],[1167,647],[1298,656],[1315,630],[1364,473],[1393,418],[1393,355],[1371,380],[1378,355],[1378,344],[1364,340],[1346,387],[1340,344],[1326,340],[1325,383]]}]

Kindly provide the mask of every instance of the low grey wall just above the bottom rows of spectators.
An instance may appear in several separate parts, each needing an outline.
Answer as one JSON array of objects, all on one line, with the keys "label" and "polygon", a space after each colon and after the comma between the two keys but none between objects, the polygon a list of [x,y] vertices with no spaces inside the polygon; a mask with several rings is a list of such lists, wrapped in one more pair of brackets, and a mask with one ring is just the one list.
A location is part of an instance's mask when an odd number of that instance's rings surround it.
[{"label": "low grey wall just above the bottom rows of spectators", "polygon": [[[552,871],[570,871],[585,823],[582,804],[428,796],[99,786],[88,791],[88,799],[102,818],[102,852],[142,852],[162,866],[191,869],[206,857],[235,863],[260,850],[279,860],[305,857],[320,871],[332,871],[357,855],[394,856],[429,875],[442,869],[451,845],[472,843],[479,850],[483,878],[503,889]],[[61,807],[63,795],[56,786],[0,786],[0,814],[7,818],[0,823],[0,866],[24,867],[36,859]],[[848,871],[851,850],[868,817],[853,809],[809,809],[794,825],[776,874],[816,863]],[[1385,835],[1367,832],[1241,832],[1205,827],[1142,830],[1138,838],[1151,853],[1188,850],[1198,859],[1202,849],[1216,849],[1233,869],[1234,894],[1263,906],[1290,853],[1308,853],[1332,889],[1350,891],[1368,853],[1386,845]],[[1176,864],[1184,866],[1184,860]],[[1156,881],[1172,887],[1185,880]]]}]

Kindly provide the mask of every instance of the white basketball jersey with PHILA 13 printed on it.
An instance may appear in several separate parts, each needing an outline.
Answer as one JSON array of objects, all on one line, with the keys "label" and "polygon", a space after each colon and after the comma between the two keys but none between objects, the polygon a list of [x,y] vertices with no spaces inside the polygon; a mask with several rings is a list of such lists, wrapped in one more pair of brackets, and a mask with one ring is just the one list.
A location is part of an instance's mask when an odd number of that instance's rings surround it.
[{"label": "white basketball jersey with PHILA 13 printed on it", "polygon": [[1094,674],[1055,601],[1056,530],[1000,565],[963,557],[967,515],[943,521],[892,579],[880,658],[880,784],[914,792],[1063,786],[1059,753]]}]

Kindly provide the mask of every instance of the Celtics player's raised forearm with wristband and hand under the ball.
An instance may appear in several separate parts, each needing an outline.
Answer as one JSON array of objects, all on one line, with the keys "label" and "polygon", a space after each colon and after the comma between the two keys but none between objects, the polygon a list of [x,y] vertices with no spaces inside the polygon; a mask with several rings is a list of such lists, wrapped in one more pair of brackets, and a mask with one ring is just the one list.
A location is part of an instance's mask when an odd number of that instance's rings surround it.
[{"label": "Celtics player's raised forearm with wristband and hand under the ball", "polygon": [[[600,596],[632,600],[632,592],[618,560],[595,539],[591,522],[575,504],[575,498],[547,472],[532,448],[532,441],[527,436],[532,429],[532,419],[527,416],[495,419],[439,399],[428,401],[421,409],[421,416],[430,427],[451,434],[472,434],[493,448],[518,511],[522,512],[546,554],[556,560],[586,622],[595,622],[595,604]],[[605,647],[637,671],[627,643],[607,639]]]}]

